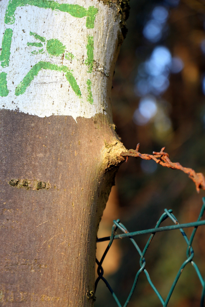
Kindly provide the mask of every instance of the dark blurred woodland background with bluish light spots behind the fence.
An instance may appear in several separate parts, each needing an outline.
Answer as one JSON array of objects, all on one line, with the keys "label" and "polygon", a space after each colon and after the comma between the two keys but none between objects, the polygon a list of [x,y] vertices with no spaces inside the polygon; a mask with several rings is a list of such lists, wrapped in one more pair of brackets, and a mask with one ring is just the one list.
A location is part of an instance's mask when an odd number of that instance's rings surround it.
[{"label": "dark blurred woodland background with bluish light spots behind the fence", "polygon": [[[141,153],[166,146],[173,162],[205,174],[205,2],[203,0],[130,0],[128,33],[116,64],[112,89],[113,120],[127,149]],[[153,162],[153,163],[152,163]],[[98,237],[111,234],[120,218],[129,231],[155,227],[164,208],[180,223],[197,220],[205,191],[197,194],[186,174],[129,158],[120,166],[104,211]],[[172,224],[167,220],[164,225]],[[192,229],[187,229],[190,235]],[[118,231],[118,233],[120,233]],[[141,250],[149,235],[135,237]],[[108,242],[97,244],[100,260]],[[145,255],[151,280],[166,298],[186,259],[179,231],[157,233]],[[199,227],[194,260],[205,275],[205,228]],[[128,239],[115,240],[103,262],[104,276],[122,305],[139,270],[140,257]],[[188,265],[168,306],[200,305],[201,285]],[[116,306],[102,281],[95,307]],[[161,306],[142,273],[129,307]]]}]

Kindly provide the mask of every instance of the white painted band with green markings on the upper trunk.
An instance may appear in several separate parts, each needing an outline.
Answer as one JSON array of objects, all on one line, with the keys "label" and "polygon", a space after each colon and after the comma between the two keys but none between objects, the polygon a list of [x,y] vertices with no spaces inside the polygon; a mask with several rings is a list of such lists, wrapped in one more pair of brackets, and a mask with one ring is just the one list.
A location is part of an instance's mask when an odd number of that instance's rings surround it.
[{"label": "white painted band with green markings on the upper trunk", "polygon": [[[4,20],[8,3],[0,2],[0,46],[5,31],[13,31],[9,64],[3,61],[3,48],[0,56],[0,108],[39,117],[71,115],[75,120],[104,113],[120,23],[116,9],[99,1],[61,0],[60,4],[97,8],[94,28],[86,26],[86,16],[33,5],[17,7],[12,24]],[[89,63],[92,41],[94,62]]]}]

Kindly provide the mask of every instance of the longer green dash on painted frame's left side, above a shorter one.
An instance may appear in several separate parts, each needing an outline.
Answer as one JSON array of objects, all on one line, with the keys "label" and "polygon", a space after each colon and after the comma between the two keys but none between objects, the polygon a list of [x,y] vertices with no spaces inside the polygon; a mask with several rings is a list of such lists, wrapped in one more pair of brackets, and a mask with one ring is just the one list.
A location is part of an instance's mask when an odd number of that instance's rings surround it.
[{"label": "longer green dash on painted frame's left side, above a shorter one", "polygon": [[2,52],[0,55],[0,61],[2,67],[9,66],[9,58],[10,58],[10,48],[11,48],[11,40],[12,40],[13,31],[12,29],[6,29],[2,39]]}]

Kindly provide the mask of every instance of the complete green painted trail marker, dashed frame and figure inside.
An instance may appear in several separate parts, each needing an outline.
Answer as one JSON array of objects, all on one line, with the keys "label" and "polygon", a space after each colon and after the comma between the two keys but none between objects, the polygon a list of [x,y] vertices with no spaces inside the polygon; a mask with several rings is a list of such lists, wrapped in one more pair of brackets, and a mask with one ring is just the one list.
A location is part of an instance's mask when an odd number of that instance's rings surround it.
[{"label": "complete green painted trail marker, dashed frame and figure inside", "polygon": [[[10,0],[6,8],[6,14],[4,18],[5,24],[7,25],[14,24],[15,18],[16,18],[15,17],[16,9],[18,7],[22,8],[24,6],[36,6],[42,9],[51,9],[56,12],[65,12],[76,18],[86,17],[86,28],[87,29],[94,28],[95,17],[98,13],[98,9],[95,8],[94,6],[89,6],[88,8],[84,8],[83,6],[80,6],[77,4],[59,3],[53,0]],[[22,31],[25,33],[24,30]],[[31,56],[38,56],[39,54],[45,54],[45,55],[49,55],[52,57],[53,56],[55,57],[65,56],[65,60],[70,60],[71,63],[72,63],[72,60],[75,58],[75,56],[71,52],[66,51],[66,46],[57,38],[46,39],[45,37],[35,32],[32,32],[32,31],[30,31],[30,36],[33,36],[37,40],[36,42],[34,41],[27,42],[26,44],[28,50],[27,48],[25,50],[26,51],[30,50]],[[1,50],[1,55],[0,55],[1,66],[3,68],[8,67],[10,63],[12,37],[13,37],[13,30],[10,28],[5,29],[5,32],[2,38],[2,50]],[[30,49],[33,47],[36,47],[39,49],[36,49],[36,50]],[[22,48],[22,46],[17,46],[17,48]],[[87,59],[85,60],[84,64],[88,66],[87,72],[91,74],[93,71],[93,62],[94,62],[94,39],[93,39],[93,36],[90,34],[87,34],[86,49],[87,49]],[[37,76],[38,73],[43,69],[65,73],[65,77],[68,80],[70,86],[72,87],[74,93],[78,97],[81,96],[80,87],[77,84],[77,81],[75,77],[73,76],[71,69],[63,65],[63,62],[62,62],[62,65],[59,65],[59,64],[57,65],[47,60],[39,61],[39,56],[38,56],[37,63],[34,65],[31,65],[29,72],[26,73],[26,76],[23,77],[22,81],[15,88],[15,95],[19,96],[19,95],[24,94],[26,92],[27,87],[29,87],[31,82],[34,80],[34,77]],[[0,73],[0,96],[1,97],[6,97],[9,94],[9,90],[7,88],[6,76],[7,76],[6,72]],[[86,94],[87,101],[90,104],[93,104],[92,82],[90,80],[90,77],[87,79],[86,84],[87,84],[87,93],[88,93]]]}]

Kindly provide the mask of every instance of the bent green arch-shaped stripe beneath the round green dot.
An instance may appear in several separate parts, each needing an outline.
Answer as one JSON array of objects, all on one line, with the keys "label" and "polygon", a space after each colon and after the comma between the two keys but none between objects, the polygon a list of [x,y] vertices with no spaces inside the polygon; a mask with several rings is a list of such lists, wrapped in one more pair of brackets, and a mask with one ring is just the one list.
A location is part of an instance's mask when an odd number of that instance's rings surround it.
[{"label": "bent green arch-shaped stripe beneath the round green dot", "polygon": [[23,80],[17,85],[15,89],[15,95],[22,95],[25,93],[26,88],[31,84],[31,81],[34,80],[34,76],[37,76],[41,69],[49,69],[55,70],[58,72],[66,72],[65,76],[68,82],[70,83],[73,91],[76,93],[77,96],[81,95],[81,91],[79,86],[77,85],[77,81],[73,77],[73,74],[69,71],[69,68],[66,66],[58,66],[56,64],[52,64],[50,62],[43,62],[40,61],[35,64],[31,70],[26,74]]}]

